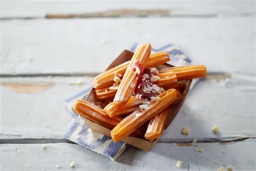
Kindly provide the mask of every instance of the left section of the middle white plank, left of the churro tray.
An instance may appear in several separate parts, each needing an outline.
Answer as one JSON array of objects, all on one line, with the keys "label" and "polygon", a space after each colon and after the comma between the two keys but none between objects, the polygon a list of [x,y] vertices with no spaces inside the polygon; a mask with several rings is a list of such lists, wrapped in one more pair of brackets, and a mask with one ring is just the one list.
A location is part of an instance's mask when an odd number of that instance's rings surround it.
[{"label": "left section of the middle white plank, left of the churro tray", "polygon": [[11,78],[0,82],[0,139],[64,139],[73,119],[64,108],[64,99],[89,86],[91,78]]}]

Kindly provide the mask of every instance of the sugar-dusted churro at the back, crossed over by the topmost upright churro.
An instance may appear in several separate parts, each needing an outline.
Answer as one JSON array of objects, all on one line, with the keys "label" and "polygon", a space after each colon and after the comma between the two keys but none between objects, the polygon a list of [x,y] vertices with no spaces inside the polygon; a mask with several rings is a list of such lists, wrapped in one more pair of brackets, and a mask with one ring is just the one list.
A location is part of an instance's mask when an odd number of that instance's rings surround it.
[{"label": "sugar-dusted churro at the back, crossed over by the topmost upright churro", "polygon": [[[169,54],[167,52],[157,52],[150,55],[149,59],[145,63],[145,68],[151,68],[161,65],[165,62],[170,61]],[[105,87],[110,87],[114,83],[114,77],[119,76],[120,79],[124,76],[125,70],[129,65],[130,61],[122,63],[110,70],[97,75],[93,79],[93,87],[95,89],[102,89]]]}]

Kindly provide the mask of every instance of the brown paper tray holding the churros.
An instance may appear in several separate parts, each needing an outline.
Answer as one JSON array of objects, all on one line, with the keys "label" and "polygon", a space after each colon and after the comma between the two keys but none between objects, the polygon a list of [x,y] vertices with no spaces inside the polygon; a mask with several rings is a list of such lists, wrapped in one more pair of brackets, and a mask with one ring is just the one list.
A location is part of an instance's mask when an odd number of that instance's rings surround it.
[{"label": "brown paper tray holding the churros", "polygon": [[[116,67],[116,66],[120,65],[121,63],[124,63],[126,61],[131,60],[132,55],[133,55],[133,52],[131,52],[131,51],[127,51],[127,50],[123,51],[117,57],[117,59],[115,59],[111,63],[111,65],[109,67],[107,67],[106,70],[109,70],[109,69],[111,69],[113,67]],[[170,66],[171,65],[165,63],[164,65],[161,65],[160,68],[166,68],[166,67],[170,67]],[[176,115],[179,112],[181,106],[183,105],[183,103],[185,101],[185,98],[186,98],[186,95],[187,95],[187,92],[188,92],[188,90],[190,88],[190,84],[191,84],[191,80],[185,82],[186,87],[185,87],[185,90],[183,92],[183,99],[180,102],[173,104],[173,108],[171,110],[171,114],[170,114],[169,120],[167,121],[167,124],[165,125],[165,130],[171,124],[172,120],[176,117]],[[86,101],[94,102],[96,104],[97,99],[95,97],[94,88],[92,88],[91,91],[89,92],[89,94],[88,94],[88,96],[86,98]],[[87,124],[87,126],[90,127],[91,130],[99,132],[99,133],[102,133],[102,134],[104,134],[106,136],[110,136],[111,130],[106,129],[105,127],[103,127],[101,125],[98,125],[95,122],[93,122],[92,120],[89,120],[89,119],[87,119],[87,118],[85,118],[83,116],[81,116],[81,117],[83,118],[83,120]],[[150,142],[150,141],[148,141],[146,139],[140,139],[140,138],[136,138],[136,137],[126,137],[125,139],[123,139],[123,141],[125,143],[127,143],[127,144],[130,144],[130,145],[132,145],[134,147],[143,149],[144,151],[148,152],[157,143],[158,139],[154,140],[153,142]]]}]

